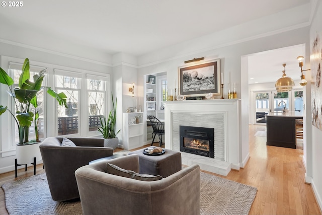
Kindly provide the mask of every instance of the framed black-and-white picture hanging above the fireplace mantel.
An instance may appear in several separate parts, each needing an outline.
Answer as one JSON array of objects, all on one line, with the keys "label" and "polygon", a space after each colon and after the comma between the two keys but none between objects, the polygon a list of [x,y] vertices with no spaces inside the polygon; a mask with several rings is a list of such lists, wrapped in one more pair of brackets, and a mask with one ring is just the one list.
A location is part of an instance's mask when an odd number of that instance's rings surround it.
[{"label": "framed black-and-white picture hanging above the fireplace mantel", "polygon": [[180,95],[205,96],[208,93],[220,95],[220,59],[181,66],[178,70]]}]

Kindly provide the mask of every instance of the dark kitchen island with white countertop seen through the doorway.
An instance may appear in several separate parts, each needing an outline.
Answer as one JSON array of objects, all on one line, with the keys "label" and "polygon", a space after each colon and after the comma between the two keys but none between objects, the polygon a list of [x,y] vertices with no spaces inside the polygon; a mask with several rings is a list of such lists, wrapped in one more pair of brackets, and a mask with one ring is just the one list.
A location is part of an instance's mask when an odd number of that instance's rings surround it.
[{"label": "dark kitchen island with white countertop seen through the doorway", "polygon": [[267,146],[296,149],[296,120],[303,119],[298,111],[270,112],[266,115]]}]

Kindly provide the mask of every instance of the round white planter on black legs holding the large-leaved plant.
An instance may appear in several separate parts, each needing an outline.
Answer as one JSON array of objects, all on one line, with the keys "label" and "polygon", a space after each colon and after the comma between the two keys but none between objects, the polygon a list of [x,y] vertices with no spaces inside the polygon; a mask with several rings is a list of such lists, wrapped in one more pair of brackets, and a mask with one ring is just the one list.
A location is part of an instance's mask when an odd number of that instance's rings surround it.
[{"label": "round white planter on black legs holding the large-leaved plant", "polygon": [[16,145],[16,156],[18,164],[31,164],[34,163],[34,158],[36,157],[36,162],[41,161],[41,154],[39,145],[41,142],[29,145]]}]

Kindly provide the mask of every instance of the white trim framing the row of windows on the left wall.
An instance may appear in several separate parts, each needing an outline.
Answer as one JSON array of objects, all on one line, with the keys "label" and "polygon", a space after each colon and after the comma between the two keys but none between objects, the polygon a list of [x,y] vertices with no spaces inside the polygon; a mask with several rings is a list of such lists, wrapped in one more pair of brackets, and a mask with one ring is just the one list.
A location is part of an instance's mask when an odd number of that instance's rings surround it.
[{"label": "white trim framing the row of windows on the left wall", "polygon": [[[22,58],[16,58],[16,57],[9,57],[9,56],[1,56],[1,67],[5,71],[9,71],[10,63],[17,64],[17,65],[23,65],[25,59]],[[31,65],[33,67],[43,67],[47,68],[47,73],[46,73],[46,87],[51,87],[53,90],[55,90],[55,78],[54,78],[54,70],[63,70],[63,71],[68,71],[73,74],[78,74],[79,78],[81,78],[81,92],[80,92],[80,99],[79,101],[86,102],[86,106],[88,105],[87,103],[87,88],[86,88],[86,82],[83,80],[86,80],[87,74],[95,77],[100,77],[104,80],[106,80],[106,101],[105,101],[105,107],[106,107],[106,113],[111,109],[110,105],[110,95],[111,92],[111,83],[110,83],[110,74],[105,74],[105,73],[99,73],[95,71],[89,71],[89,70],[84,70],[84,69],[78,69],[78,68],[72,68],[72,67],[67,67],[67,66],[61,66],[61,65],[55,65],[55,64],[50,64],[50,63],[43,63],[39,61],[32,61]],[[36,66],[37,65],[37,66]],[[1,84],[0,85],[0,104],[3,106],[8,106],[10,110],[12,110],[13,104],[12,104],[12,98],[8,95],[7,93],[8,87]],[[46,96],[47,94],[44,93]],[[58,131],[57,131],[57,102],[54,98],[51,96],[46,97],[46,102],[44,104],[45,109],[44,109],[44,137],[48,136],[56,136]],[[85,117],[88,116],[88,108],[82,108],[81,115],[79,117]],[[50,114],[47,114],[50,113]],[[14,132],[14,126],[15,124],[13,123],[13,117],[8,114],[4,113],[3,115],[0,116],[0,126],[2,129],[0,129],[0,157],[8,157],[8,156],[14,156],[16,155],[16,144],[14,142],[12,132]],[[88,121],[88,120],[87,120]],[[81,124],[81,123],[80,123]],[[88,126],[82,126],[79,128],[79,133],[77,136],[102,136],[99,131],[88,131]],[[9,134],[9,135],[8,135]]]}]

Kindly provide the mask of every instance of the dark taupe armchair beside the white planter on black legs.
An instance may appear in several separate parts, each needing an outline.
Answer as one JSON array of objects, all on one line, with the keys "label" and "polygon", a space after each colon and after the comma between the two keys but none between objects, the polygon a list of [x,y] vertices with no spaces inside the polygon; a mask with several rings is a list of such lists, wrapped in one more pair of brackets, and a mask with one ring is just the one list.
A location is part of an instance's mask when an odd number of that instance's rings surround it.
[{"label": "dark taupe armchair beside the white planter on black legs", "polygon": [[113,155],[103,138],[48,137],[39,146],[51,197],[66,201],[79,197],[75,170],[90,161]]}]

